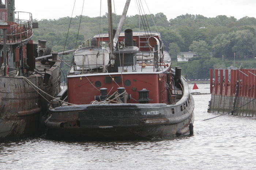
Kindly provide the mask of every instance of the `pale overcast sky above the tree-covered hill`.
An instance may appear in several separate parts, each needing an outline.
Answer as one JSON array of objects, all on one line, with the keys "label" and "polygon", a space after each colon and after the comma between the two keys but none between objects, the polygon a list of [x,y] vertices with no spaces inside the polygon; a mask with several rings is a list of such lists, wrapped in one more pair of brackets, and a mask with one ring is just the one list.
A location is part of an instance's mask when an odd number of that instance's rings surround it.
[{"label": "pale overcast sky above the tree-covered hill", "polygon": [[[34,19],[59,19],[60,17],[71,16],[74,2],[76,1],[73,16],[80,15],[83,0],[16,0],[16,11],[31,12]],[[127,15],[138,14],[136,0],[131,0]],[[138,1],[138,0],[137,0]],[[107,0],[102,0],[103,15],[108,12]],[[126,0],[116,0],[115,9],[118,15],[123,12]],[[144,11],[148,12],[145,1]],[[200,14],[206,17],[218,15],[234,16],[240,19],[244,16],[256,17],[256,0],[146,0],[150,13],[163,12],[167,19],[174,19],[182,14]],[[112,0],[112,12],[114,5]],[[97,17],[100,13],[100,0],[84,0],[82,15]]]}]

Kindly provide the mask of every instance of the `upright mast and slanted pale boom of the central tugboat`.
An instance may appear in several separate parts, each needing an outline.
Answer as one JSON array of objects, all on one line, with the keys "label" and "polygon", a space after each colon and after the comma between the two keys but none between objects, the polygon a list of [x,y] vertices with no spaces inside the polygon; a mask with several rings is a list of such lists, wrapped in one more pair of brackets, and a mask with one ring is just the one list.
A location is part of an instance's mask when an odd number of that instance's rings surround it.
[{"label": "upright mast and slanted pale boom of the central tugboat", "polygon": [[128,7],[129,7],[129,4],[130,4],[130,1],[131,0],[127,0],[126,3],[125,3],[121,19],[120,19],[120,21],[118,23],[118,26],[117,26],[116,34],[115,34],[115,37],[113,39],[112,4],[111,4],[111,0],[108,0],[109,29],[110,29],[109,30],[109,39],[110,39],[110,42],[111,42],[110,43],[110,51],[111,51],[110,62],[111,62],[112,67],[115,64],[114,48],[116,47],[116,44],[117,44],[117,41],[118,41],[118,37],[119,37],[120,32],[122,30],[122,27],[123,27],[123,24],[124,24],[124,19],[125,19],[125,16],[127,14],[127,11],[128,11]]}]

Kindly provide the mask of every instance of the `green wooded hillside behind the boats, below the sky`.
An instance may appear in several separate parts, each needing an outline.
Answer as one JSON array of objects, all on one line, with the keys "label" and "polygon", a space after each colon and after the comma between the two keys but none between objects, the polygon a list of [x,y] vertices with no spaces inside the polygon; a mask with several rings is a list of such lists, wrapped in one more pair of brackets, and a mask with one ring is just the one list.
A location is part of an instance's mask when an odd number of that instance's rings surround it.
[{"label": "green wooded hillside behind the boats, below the sky", "polygon": [[[117,27],[120,17],[121,15],[113,14],[113,28]],[[34,31],[33,40],[45,39],[48,41],[47,46],[57,52],[63,51],[64,47],[65,50],[74,49],[76,43],[97,33],[108,32],[109,28],[108,13],[102,17],[76,16],[72,19],[62,17],[34,21],[38,22],[39,28]],[[234,53],[236,53],[236,60],[245,61],[251,61],[256,55],[256,19],[254,17],[245,16],[237,20],[233,16],[225,15],[208,18],[203,15],[185,14],[167,20],[167,17],[160,12],[155,15],[127,16],[123,30],[127,28],[133,31],[161,33],[164,48],[171,55],[172,63],[175,66],[181,66],[182,74],[189,78],[208,78],[210,68],[220,68],[223,63],[233,65]],[[177,54],[188,51],[196,52],[198,57],[186,63],[176,63]],[[210,56],[210,52],[213,57]],[[64,58],[72,60],[72,55]],[[255,67],[252,62],[245,63],[244,67],[246,66]],[[63,70],[67,72],[68,67],[63,65]]]}]

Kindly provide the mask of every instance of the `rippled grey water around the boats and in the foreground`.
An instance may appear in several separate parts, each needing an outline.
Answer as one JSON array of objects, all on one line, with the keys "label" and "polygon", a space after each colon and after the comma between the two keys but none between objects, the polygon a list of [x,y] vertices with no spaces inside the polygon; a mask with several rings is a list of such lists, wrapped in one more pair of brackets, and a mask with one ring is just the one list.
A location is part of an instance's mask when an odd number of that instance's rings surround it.
[{"label": "rippled grey water around the boats and in the foreground", "polygon": [[[210,92],[209,84],[197,86],[197,92]],[[256,169],[256,120],[224,115],[203,121],[217,115],[207,113],[210,95],[193,98],[191,137],[135,142],[43,138],[2,142],[0,169]]]}]

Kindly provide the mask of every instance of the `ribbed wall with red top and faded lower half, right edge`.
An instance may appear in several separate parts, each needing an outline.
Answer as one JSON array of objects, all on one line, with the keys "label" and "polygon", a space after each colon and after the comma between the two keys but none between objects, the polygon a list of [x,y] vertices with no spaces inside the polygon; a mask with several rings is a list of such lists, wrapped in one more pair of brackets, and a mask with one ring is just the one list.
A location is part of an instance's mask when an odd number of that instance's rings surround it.
[{"label": "ribbed wall with red top and faded lower half, right edge", "polygon": [[[250,72],[255,74],[256,69],[231,70],[230,76],[228,75],[228,70],[225,70],[225,81],[223,81],[223,70],[220,70],[219,76],[218,70],[215,70],[215,81],[213,81],[213,71],[210,71],[210,86],[212,89],[210,111],[217,111],[222,114],[233,109],[238,81],[239,88],[236,108],[249,103],[234,111],[233,114],[239,116],[256,116],[256,100],[253,100],[256,94],[256,76]],[[253,101],[250,102],[251,100]]]}]

